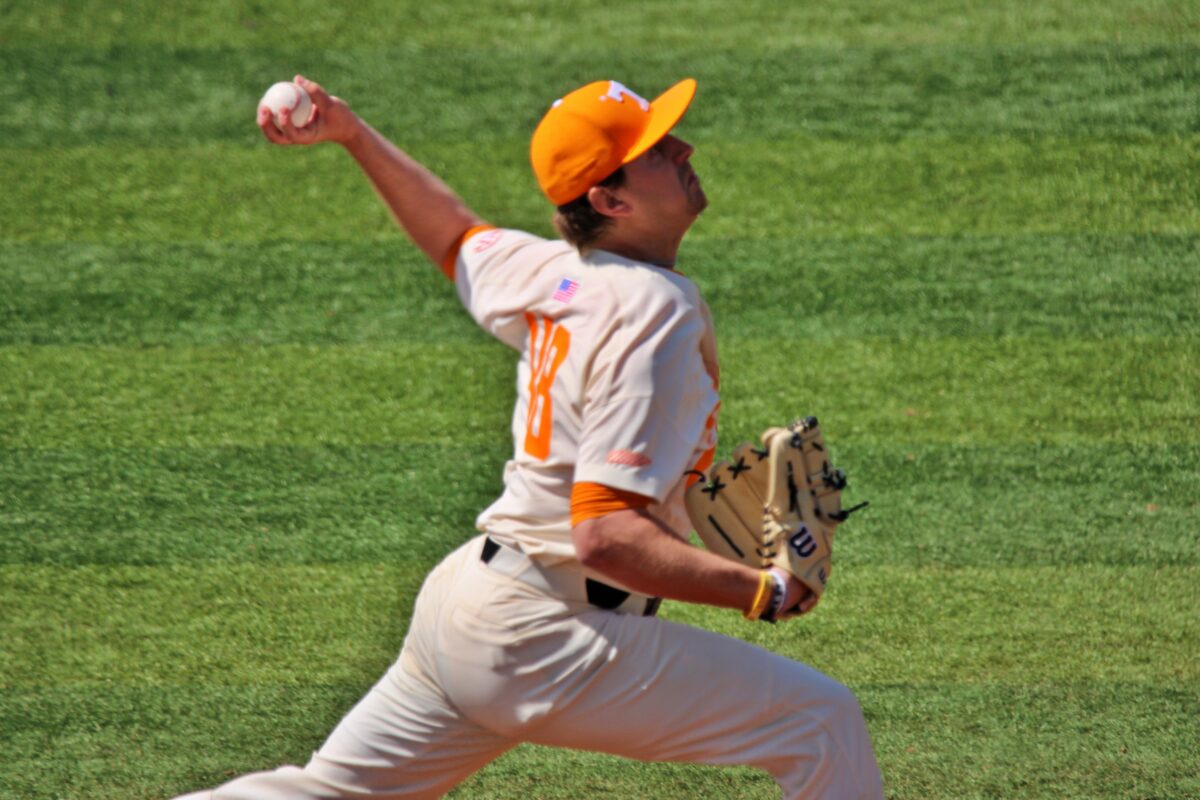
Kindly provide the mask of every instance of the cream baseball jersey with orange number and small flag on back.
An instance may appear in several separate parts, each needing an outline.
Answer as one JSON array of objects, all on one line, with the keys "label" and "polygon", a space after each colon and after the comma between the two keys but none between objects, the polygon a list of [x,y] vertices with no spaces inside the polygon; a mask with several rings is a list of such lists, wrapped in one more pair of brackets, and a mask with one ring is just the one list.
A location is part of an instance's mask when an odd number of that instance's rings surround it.
[{"label": "cream baseball jersey with orange number and small flag on back", "polygon": [[685,473],[715,446],[718,407],[695,284],[499,228],[462,242],[454,278],[472,317],[520,354],[514,456],[478,528],[546,563],[574,559],[571,488],[590,482],[652,498],[685,539]]}]

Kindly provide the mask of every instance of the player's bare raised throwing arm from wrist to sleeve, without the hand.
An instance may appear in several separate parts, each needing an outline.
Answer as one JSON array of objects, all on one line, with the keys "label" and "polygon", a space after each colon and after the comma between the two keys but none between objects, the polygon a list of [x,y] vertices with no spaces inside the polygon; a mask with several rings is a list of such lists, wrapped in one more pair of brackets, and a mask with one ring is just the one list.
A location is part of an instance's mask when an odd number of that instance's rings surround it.
[{"label": "player's bare raised throwing arm from wrist to sleeve, without the hand", "polygon": [[463,231],[481,224],[442,179],[361,119],[342,145],[413,243],[434,264],[442,263]]}]

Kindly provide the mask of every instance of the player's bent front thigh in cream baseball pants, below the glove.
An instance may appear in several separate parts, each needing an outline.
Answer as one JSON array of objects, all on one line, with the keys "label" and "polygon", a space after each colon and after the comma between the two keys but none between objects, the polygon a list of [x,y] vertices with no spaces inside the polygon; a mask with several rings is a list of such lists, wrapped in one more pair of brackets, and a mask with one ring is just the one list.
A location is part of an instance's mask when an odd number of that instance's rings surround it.
[{"label": "player's bent front thigh in cream baseball pants, below the glove", "polygon": [[740,639],[664,620],[587,614],[607,643],[586,691],[563,702],[533,741],[644,760],[750,764],[866,747],[862,711],[838,681]]}]

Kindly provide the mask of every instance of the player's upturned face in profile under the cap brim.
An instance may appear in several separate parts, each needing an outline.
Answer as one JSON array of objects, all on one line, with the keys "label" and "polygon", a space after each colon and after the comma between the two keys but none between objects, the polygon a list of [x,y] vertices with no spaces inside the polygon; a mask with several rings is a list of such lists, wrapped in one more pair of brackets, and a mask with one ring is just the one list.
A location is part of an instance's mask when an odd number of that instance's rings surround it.
[{"label": "player's upturned face in profile under the cap brim", "polygon": [[[670,133],[653,148],[625,164],[625,186],[638,211],[660,223],[680,221],[686,224],[708,206],[708,198],[691,168],[690,144]],[[640,207],[638,207],[640,206]]]}]

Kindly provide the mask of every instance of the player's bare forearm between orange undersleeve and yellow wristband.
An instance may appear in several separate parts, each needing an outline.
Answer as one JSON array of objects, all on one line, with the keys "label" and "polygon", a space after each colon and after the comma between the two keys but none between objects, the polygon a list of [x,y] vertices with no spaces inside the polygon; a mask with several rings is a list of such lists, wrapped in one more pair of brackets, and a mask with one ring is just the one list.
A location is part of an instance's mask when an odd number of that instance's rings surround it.
[{"label": "player's bare forearm between orange undersleeve and yellow wristband", "polygon": [[745,610],[758,571],[677,539],[642,510],[586,521],[572,531],[580,560],[634,591]]}]

